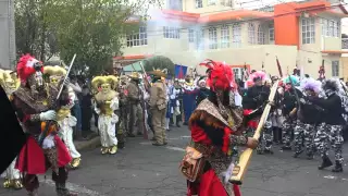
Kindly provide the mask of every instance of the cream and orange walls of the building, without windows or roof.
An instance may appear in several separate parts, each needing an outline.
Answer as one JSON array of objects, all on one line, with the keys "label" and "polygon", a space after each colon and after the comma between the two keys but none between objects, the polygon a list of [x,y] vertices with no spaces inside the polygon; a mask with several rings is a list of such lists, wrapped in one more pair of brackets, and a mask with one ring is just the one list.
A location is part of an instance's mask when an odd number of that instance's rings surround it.
[{"label": "cream and orange walls of the building, without windows or roof", "polygon": [[[186,12],[206,13],[204,9],[221,9],[217,5],[207,7],[208,0],[203,0],[203,8],[196,9],[195,0],[183,1],[183,10]],[[217,1],[219,2],[219,1]],[[206,3],[206,4],[204,4]],[[215,7],[215,8],[214,8]],[[274,14],[284,14],[291,12],[296,7],[295,3],[281,4],[275,7]],[[222,11],[222,10],[220,10]],[[302,19],[314,17],[315,37],[313,44],[302,42]],[[213,59],[216,61],[225,61],[228,64],[240,66],[250,65],[252,70],[261,70],[262,63],[270,74],[278,74],[275,63],[278,58],[283,74],[291,73],[294,68],[303,69],[304,73],[313,77],[318,77],[319,66],[324,60],[326,76],[333,76],[333,61],[339,61],[338,77],[344,76],[345,69],[348,64],[344,64],[339,54],[325,54],[323,50],[339,51],[341,48],[340,36],[325,36],[323,33],[322,19],[339,21],[337,16],[331,13],[320,13],[312,15],[284,15],[274,17],[270,21],[226,21],[209,24],[184,23],[181,21],[150,21],[148,22],[148,45],[140,47],[125,48],[124,54],[162,54],[171,58],[174,63],[188,66],[196,66],[204,59]],[[256,44],[249,42],[249,23],[254,25]],[[233,24],[240,24],[241,44],[236,47],[233,45]],[[264,33],[264,45],[258,44],[258,26],[262,25]],[[274,24],[274,40],[270,40],[270,25]],[[221,47],[221,27],[229,26],[229,48]],[[175,26],[181,28],[179,39],[167,39],[163,37],[163,26]],[[216,28],[217,48],[209,48],[209,28]],[[188,28],[203,29],[204,41],[203,49],[197,50],[195,42],[188,41]],[[340,35],[340,30],[338,30]],[[348,60],[347,60],[348,61]],[[348,62],[346,62],[348,63]],[[204,69],[200,68],[199,72],[203,73]]]}]

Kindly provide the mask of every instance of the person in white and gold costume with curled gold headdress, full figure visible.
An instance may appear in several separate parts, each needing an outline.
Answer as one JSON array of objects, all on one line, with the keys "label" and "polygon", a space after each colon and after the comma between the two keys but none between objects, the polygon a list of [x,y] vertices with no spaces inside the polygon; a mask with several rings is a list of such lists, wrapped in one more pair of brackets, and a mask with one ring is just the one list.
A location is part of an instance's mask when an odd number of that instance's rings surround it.
[{"label": "person in white and gold costume with curled gold headdress, full figure visible", "polygon": [[101,86],[101,91],[96,96],[96,112],[98,113],[98,130],[101,142],[101,154],[114,155],[117,152],[119,140],[116,138],[115,123],[119,117],[114,113],[119,109],[117,93],[111,89],[114,79],[110,76],[96,76],[92,81],[92,87]]}]

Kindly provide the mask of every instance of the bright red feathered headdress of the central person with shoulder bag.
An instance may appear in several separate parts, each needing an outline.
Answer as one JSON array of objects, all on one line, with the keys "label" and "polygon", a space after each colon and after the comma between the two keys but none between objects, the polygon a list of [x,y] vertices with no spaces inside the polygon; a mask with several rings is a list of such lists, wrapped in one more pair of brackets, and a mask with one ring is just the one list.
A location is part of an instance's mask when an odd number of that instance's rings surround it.
[{"label": "bright red feathered headdress of the central person with shoulder bag", "polygon": [[210,87],[211,90],[229,90],[237,88],[234,73],[229,65],[223,62],[215,62],[209,59],[200,63],[200,65],[204,65],[210,70],[207,78],[207,85]]}]

